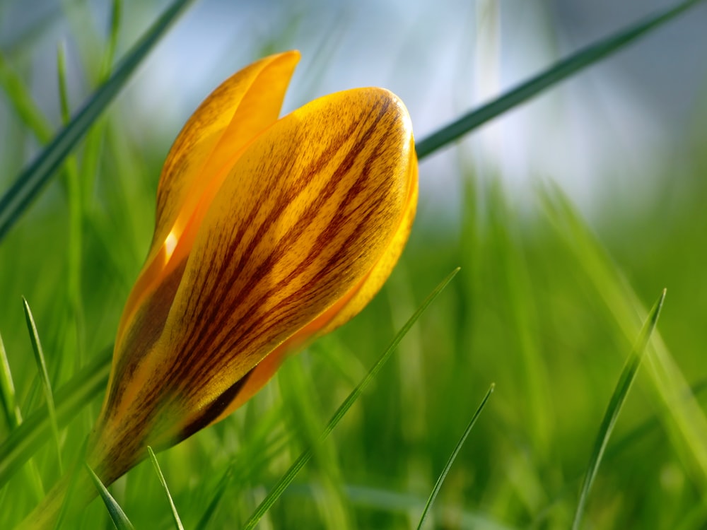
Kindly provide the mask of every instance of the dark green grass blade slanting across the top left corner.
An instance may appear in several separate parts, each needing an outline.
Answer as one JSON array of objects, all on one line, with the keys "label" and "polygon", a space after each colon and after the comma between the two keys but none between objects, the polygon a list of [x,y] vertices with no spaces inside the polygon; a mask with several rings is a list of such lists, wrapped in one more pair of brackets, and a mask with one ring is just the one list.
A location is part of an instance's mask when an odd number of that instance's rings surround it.
[{"label": "dark green grass blade slanting across the top left corner", "polygon": [[175,0],[147,33],[136,43],[110,76],[108,81],[93,93],[86,105],[76,114],[40,155],[21,172],[10,189],[0,198],[0,240],[16,223],[49,179],[54,175],[64,158],[86,134],[115,95],[125,85],[160,37],[176,20],[177,16],[193,0]]}]

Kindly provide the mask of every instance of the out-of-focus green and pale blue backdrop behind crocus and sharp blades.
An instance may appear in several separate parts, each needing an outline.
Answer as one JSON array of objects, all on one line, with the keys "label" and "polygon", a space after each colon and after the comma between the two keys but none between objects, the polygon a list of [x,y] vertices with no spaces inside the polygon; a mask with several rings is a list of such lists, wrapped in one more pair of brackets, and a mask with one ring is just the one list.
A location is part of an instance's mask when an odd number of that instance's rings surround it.
[{"label": "out-of-focus green and pale blue backdrop behind crocus and sharp blades", "polygon": [[[336,90],[382,86],[402,98],[423,139],[554,61],[672,5],[194,2],[97,124],[93,146],[77,151],[85,177],[80,242],[69,236],[64,177],[0,242],[0,334],[25,415],[42,400],[21,295],[61,387],[112,343],[151,237],[170,143],[234,71],[264,54],[300,49],[284,112]],[[166,6],[124,1],[115,57]],[[0,191],[62,123],[57,47],[66,52],[72,111],[97,86],[111,8],[98,0],[0,0]],[[445,482],[434,524],[567,528],[621,367],[645,310],[667,287],[662,342],[619,418],[585,527],[704,528],[705,28],[701,3],[421,161],[411,241],[370,307],[288,361],[244,411],[164,454],[177,508],[191,526],[226,469],[240,480],[228,482],[230,500],[211,524],[243,522],[423,298],[462,266],[263,527],[408,528],[496,382]],[[42,115],[41,125],[28,119],[12,96],[18,93]],[[99,155],[86,160],[91,153]],[[97,407],[72,424],[69,439],[86,432]],[[257,428],[262,418],[274,425],[270,433]],[[269,454],[261,444],[272,447],[273,436],[286,440],[281,452],[238,468],[247,455]],[[49,453],[38,458],[51,482]],[[161,495],[151,473],[141,466],[117,486],[137,527],[152,527],[151,502]],[[6,487],[0,502],[17,495],[18,505],[30,506],[31,488],[17,480],[17,493]],[[95,504],[93,517],[102,517]],[[160,510],[166,528],[168,512]]]}]

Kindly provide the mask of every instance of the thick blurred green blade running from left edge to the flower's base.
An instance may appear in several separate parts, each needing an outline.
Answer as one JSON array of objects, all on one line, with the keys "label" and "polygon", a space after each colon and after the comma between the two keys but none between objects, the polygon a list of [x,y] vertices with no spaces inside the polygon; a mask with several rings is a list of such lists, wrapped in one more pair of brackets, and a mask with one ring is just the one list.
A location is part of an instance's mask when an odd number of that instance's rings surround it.
[{"label": "thick blurred green blade running from left edge to the flower's base", "polygon": [[[77,411],[105,390],[111,359],[112,347],[106,348],[57,391],[54,405],[59,427],[63,428]],[[0,443],[0,488],[47,441],[51,429],[47,411],[42,408],[25,419]]]}]

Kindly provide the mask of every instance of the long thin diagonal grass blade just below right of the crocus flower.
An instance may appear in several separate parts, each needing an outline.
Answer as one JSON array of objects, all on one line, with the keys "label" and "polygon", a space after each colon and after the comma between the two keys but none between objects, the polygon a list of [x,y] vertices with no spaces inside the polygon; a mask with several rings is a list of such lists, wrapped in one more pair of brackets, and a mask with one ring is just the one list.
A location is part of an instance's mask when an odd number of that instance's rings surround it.
[{"label": "long thin diagonal grass blade just below right of the crocus flower", "polygon": [[[395,348],[397,348],[398,344],[400,341],[402,341],[402,338],[407,334],[407,331],[412,327],[412,325],[419,319],[421,314],[427,309],[427,307],[435,300],[435,298],[438,297],[438,295],[444,290],[444,288],[452,281],[452,278],[459,272],[459,269],[455,269],[452,271],[449,276],[447,276],[442,283],[437,285],[437,287],[428,295],[428,297],[425,299],[424,302],[422,302],[422,305],[418,308],[416,312],[409,318],[409,320],[405,323],[404,326],[400,329],[400,331],[397,332],[395,335],[395,338],[393,338],[392,342],[390,345],[387,347],[385,352],[378,358],[378,361],[373,365],[373,367],[370,369],[368,374],[366,374],[366,377],[363,377],[360,383],[354,388],[354,390],[351,391],[351,394],[346,397],[344,402],[339,406],[337,411],[334,413],[334,416],[332,416],[332,419],[329,420],[329,423],[327,423],[327,426],[322,432],[322,436],[320,437],[320,442],[325,440],[329,434],[331,434],[332,430],[337,426],[341,418],[344,417],[347,411],[349,411],[349,408],[356,402],[356,399],[358,399],[359,396],[361,396],[361,393],[363,392],[363,389],[365,389],[368,384],[370,384],[373,379],[378,375],[378,372],[380,372],[380,369],[385,365],[388,359],[390,359],[390,356],[392,353],[395,351]],[[270,509],[272,505],[274,505],[275,501],[278,500],[282,492],[287,488],[288,485],[293,481],[297,473],[299,473],[300,469],[302,469],[305,464],[307,464],[308,461],[312,459],[312,449],[306,449],[305,452],[300,454],[298,459],[294,461],[292,466],[290,466],[290,469],[287,470],[287,472],[282,476],[282,478],[278,481],[278,483],[275,485],[274,488],[268,493],[268,495],[262,500],[262,502],[258,505],[258,507],[255,509],[255,512],[250,516],[250,519],[247,520],[245,525],[243,525],[244,530],[252,530],[255,528],[255,525],[258,524],[259,520],[263,517],[264,514],[267,513],[267,511]]]}]

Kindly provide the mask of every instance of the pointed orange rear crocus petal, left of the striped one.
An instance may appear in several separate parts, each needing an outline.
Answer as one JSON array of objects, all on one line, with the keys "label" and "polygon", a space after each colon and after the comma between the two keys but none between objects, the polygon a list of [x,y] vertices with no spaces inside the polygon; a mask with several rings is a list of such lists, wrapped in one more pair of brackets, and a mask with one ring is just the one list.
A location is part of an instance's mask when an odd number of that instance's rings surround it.
[{"label": "pointed orange rear crocus petal, left of the striped one", "polygon": [[[278,118],[299,52],[261,59],[238,71],[209,95],[182,128],[165,161],[157,191],[150,251],[125,306],[117,334],[139,305],[175,269],[168,266],[185,225],[230,160]],[[181,245],[188,253],[188,245]],[[178,260],[177,260],[178,261]]]}]

